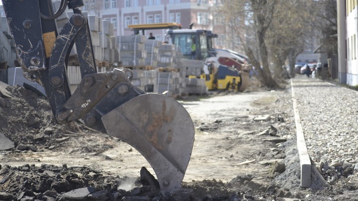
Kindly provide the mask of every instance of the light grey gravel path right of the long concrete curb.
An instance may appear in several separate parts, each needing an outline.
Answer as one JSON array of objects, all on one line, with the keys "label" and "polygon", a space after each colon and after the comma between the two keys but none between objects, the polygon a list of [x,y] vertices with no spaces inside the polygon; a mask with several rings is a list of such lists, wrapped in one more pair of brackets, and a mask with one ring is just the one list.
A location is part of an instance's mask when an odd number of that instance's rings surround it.
[{"label": "light grey gravel path right of the long concrete curb", "polygon": [[315,166],[330,184],[358,181],[358,92],[317,79],[294,79],[293,87]]}]

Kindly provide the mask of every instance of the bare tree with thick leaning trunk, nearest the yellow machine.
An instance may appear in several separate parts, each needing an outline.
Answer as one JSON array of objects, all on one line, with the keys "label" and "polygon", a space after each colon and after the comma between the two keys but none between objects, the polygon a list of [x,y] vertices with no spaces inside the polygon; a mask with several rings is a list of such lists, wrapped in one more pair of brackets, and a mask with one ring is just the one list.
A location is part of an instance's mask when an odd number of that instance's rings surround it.
[{"label": "bare tree with thick leaning trunk, nearest the yellow machine", "polygon": [[[269,69],[269,52],[265,37],[276,11],[276,3],[277,0],[223,0],[222,6],[218,8],[218,12],[225,16],[228,26],[237,33],[246,55],[259,72],[261,83],[269,88],[278,87]],[[240,34],[242,24],[236,23],[237,17],[242,16],[242,13],[245,13],[245,34]],[[246,36],[254,36],[255,43],[247,44]]]}]

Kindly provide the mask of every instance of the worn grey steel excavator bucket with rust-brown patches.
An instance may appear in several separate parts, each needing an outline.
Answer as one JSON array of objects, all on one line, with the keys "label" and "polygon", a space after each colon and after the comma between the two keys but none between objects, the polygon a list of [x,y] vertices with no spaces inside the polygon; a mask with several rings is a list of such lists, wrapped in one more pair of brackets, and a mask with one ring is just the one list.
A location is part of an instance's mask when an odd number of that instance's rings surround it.
[{"label": "worn grey steel excavator bucket with rust-brown patches", "polygon": [[152,166],[161,190],[179,188],[189,163],[194,126],[175,99],[139,95],[102,117],[107,134],[137,149]]}]

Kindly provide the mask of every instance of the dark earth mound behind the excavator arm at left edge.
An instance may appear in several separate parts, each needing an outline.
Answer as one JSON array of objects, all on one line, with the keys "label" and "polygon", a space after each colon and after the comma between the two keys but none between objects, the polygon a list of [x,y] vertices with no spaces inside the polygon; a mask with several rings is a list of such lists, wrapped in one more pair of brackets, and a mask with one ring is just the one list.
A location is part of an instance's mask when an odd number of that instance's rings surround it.
[{"label": "dark earth mound behind the excavator arm at left edge", "polygon": [[79,121],[57,124],[47,99],[32,90],[4,83],[0,88],[0,103],[5,103],[0,107],[0,133],[14,143],[16,150],[56,150],[78,133],[96,134]]}]

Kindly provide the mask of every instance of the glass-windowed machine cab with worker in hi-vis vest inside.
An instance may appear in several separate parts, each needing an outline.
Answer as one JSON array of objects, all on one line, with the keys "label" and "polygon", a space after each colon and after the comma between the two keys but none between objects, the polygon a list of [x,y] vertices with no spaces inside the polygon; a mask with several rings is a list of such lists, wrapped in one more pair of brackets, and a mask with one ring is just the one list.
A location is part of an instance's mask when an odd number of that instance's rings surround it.
[{"label": "glass-windowed machine cab with worker in hi-vis vest inside", "polygon": [[166,40],[168,43],[175,44],[183,54],[183,58],[204,61],[209,55],[206,33],[206,30],[167,30]]}]

